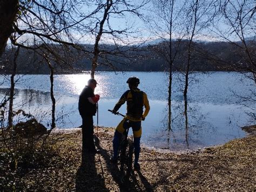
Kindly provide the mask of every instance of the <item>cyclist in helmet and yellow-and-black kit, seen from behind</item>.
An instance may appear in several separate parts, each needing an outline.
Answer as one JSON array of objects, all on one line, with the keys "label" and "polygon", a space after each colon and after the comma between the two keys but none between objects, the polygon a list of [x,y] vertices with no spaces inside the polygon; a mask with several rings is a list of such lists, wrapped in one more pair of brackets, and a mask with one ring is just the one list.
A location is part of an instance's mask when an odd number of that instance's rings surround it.
[{"label": "cyclist in helmet and yellow-and-black kit, seen from behind", "polygon": [[[124,119],[119,123],[114,133],[113,138],[113,157],[112,162],[117,162],[118,146],[122,134],[125,129],[132,127],[133,138],[134,138],[134,169],[139,170],[140,166],[138,163],[139,152],[140,152],[140,137],[142,136],[142,120],[144,121],[147,114],[150,111],[149,100],[147,95],[138,88],[139,78],[130,77],[127,82],[130,90],[127,90],[117,102],[113,108],[113,113],[117,113],[118,109],[125,103],[127,103],[127,113]],[[143,112],[143,107],[145,111]]]}]

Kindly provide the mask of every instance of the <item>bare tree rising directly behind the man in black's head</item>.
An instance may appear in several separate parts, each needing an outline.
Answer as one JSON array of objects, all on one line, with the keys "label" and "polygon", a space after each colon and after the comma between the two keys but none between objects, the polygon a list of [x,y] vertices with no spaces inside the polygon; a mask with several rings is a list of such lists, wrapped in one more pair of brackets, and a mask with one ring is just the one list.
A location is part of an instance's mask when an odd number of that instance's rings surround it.
[{"label": "bare tree rising directly behind the man in black's head", "polygon": [[[105,3],[103,3],[105,2]],[[133,40],[129,39],[128,42],[125,41],[127,37],[131,37],[132,34],[136,33],[135,30],[132,31],[133,26],[127,25],[125,27],[113,27],[112,19],[131,19],[132,15],[138,18],[142,18],[142,14],[139,10],[149,2],[148,0],[143,0],[138,5],[131,4],[129,1],[119,1],[119,0],[99,0],[96,3],[100,6],[103,11],[102,15],[97,17],[95,20],[95,27],[91,29],[91,32],[95,35],[95,44],[93,47],[93,58],[92,58],[92,69],[91,78],[95,76],[96,67],[99,65],[98,58],[104,60],[106,64],[113,67],[113,59],[111,57],[130,57],[127,56],[127,52],[136,50],[136,46],[128,47],[132,45]],[[100,11],[99,11],[100,12]],[[123,21],[124,22],[124,21]],[[93,22],[91,22],[93,23]],[[111,50],[106,50],[102,47],[100,50],[99,42],[100,39],[109,40],[108,43],[113,43],[114,48]],[[122,44],[122,45],[121,45]],[[128,48],[127,48],[128,47]],[[127,48],[127,49],[126,49]]]}]

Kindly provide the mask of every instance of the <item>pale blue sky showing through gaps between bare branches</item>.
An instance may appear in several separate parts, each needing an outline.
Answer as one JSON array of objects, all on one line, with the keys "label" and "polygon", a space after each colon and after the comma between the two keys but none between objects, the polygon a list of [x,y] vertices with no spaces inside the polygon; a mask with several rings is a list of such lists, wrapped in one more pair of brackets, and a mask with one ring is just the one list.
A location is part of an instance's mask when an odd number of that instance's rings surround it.
[{"label": "pale blue sky showing through gaps between bare branches", "polygon": [[[44,1],[44,0],[42,0]],[[46,0],[45,0],[46,1]],[[159,39],[159,38],[169,38],[169,29],[167,28],[166,24],[163,22],[162,19],[160,19],[159,16],[163,14],[163,11],[158,11],[157,0],[149,1],[143,9],[140,10],[140,13],[143,14],[143,19],[139,18],[138,16],[132,15],[130,13],[125,13],[123,17],[112,15],[110,17],[110,25],[113,30],[123,30],[125,28],[130,28],[128,30],[128,33],[125,35],[119,35],[120,39],[116,39],[116,42],[119,44],[126,44],[126,43],[131,43],[131,44],[138,44],[142,43],[144,41],[149,41],[151,42],[152,40]],[[171,1],[171,0],[170,0]],[[175,1],[174,0],[174,16],[178,16],[178,18],[185,18],[184,15],[179,12],[181,6],[183,5],[183,1],[186,0],[180,0],[180,1]],[[233,2],[237,2],[241,0],[233,0]],[[130,0],[127,1],[130,2],[131,4],[138,5],[142,1],[136,1],[136,0]],[[191,3],[192,0],[189,0],[188,3]],[[200,2],[200,1],[199,1]],[[203,0],[201,0],[203,2]],[[211,2],[211,1],[210,1]],[[232,2],[232,1],[231,1]],[[248,5],[250,5],[252,8],[253,6],[255,7],[256,0],[247,0]],[[91,11],[93,11],[96,8],[96,0],[87,0],[87,4],[84,4],[80,8],[80,12],[83,12],[85,15]],[[166,7],[164,8],[165,10]],[[184,14],[184,13],[183,13]],[[96,15],[98,18],[101,18],[103,16],[103,12],[97,13]],[[186,18],[185,18],[186,19]],[[204,21],[204,18],[201,19],[202,22]],[[154,21],[154,23],[151,23]],[[256,23],[255,15],[253,17],[253,21]],[[88,20],[89,22],[89,20]],[[97,20],[94,20],[93,24],[91,27],[95,26],[95,23]],[[192,22],[191,22],[192,23]],[[86,24],[86,22],[85,22]],[[22,22],[20,22],[20,25],[22,25]],[[107,25],[105,23],[105,29],[107,29]],[[183,34],[186,32],[184,31],[184,22],[180,22],[179,20],[175,21],[173,24],[173,33],[172,33],[172,38],[179,38],[183,36]],[[220,23],[218,23],[218,27],[221,31],[228,31],[230,28],[225,25],[223,20],[221,20]],[[216,34],[214,32],[209,32],[212,26],[207,26],[207,28],[198,31],[196,33],[196,36],[194,37],[195,40],[204,40],[204,41],[217,41],[217,40],[223,40],[220,38],[217,38]],[[199,28],[198,28],[199,29]],[[254,34],[253,34],[254,32]],[[79,43],[89,43],[93,44],[95,43],[95,35],[97,33],[85,33],[83,31],[75,31],[73,30],[72,36],[79,42]],[[65,39],[64,33],[62,36]],[[252,37],[255,36],[255,24],[254,24],[254,29],[251,30],[250,33],[246,37]],[[230,36],[231,40],[239,40],[238,37],[235,36]],[[30,42],[30,36],[29,35],[24,35],[20,40],[28,41]],[[124,41],[124,42],[122,42]],[[32,42],[31,42],[32,43]],[[101,42],[100,43],[114,43],[114,40],[111,36],[109,35],[103,35]]]}]

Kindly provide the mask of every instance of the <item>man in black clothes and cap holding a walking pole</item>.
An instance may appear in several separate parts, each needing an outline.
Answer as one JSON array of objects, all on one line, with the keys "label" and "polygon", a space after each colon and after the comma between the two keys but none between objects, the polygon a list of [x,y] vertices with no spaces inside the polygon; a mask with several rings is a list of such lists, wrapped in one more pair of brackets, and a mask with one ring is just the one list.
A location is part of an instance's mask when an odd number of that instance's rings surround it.
[{"label": "man in black clothes and cap holding a walking pole", "polygon": [[82,155],[87,153],[97,153],[95,143],[93,141],[93,116],[97,112],[97,102],[99,95],[94,94],[97,81],[89,79],[87,86],[84,87],[79,96],[78,109],[83,119],[82,125]]}]

